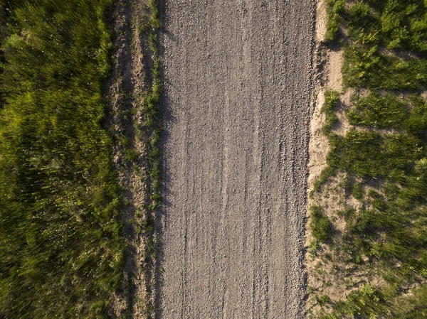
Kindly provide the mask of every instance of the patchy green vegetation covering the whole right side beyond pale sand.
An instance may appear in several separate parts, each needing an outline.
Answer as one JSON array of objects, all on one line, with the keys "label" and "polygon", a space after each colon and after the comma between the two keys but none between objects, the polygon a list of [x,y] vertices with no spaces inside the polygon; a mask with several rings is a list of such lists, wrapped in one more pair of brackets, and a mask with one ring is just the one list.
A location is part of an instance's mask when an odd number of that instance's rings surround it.
[{"label": "patchy green vegetation covering the whole right side beyond pale sand", "polygon": [[[318,298],[325,309],[320,317],[427,318],[427,3],[348,2],[328,1],[326,40],[344,48],[344,86],[355,92],[347,119],[354,128],[334,133],[339,94],[327,92],[323,132],[330,153],[315,191],[322,195],[333,176],[344,174],[346,198],[359,200],[358,207],[332,212],[331,222],[344,220],[345,229],[332,227],[327,250],[333,256],[326,256],[334,276],[354,281],[347,298]],[[322,224],[312,219],[313,231]]]}]

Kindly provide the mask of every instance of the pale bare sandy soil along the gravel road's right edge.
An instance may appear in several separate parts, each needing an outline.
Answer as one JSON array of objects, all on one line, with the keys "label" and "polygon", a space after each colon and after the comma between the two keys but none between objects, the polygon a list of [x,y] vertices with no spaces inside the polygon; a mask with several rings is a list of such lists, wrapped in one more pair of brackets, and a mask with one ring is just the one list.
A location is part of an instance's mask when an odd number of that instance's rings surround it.
[{"label": "pale bare sandy soil along the gravel road's right edge", "polygon": [[[315,50],[315,112],[310,124],[310,161],[308,190],[311,192],[313,184],[317,178],[320,177],[323,169],[327,167],[327,154],[330,151],[329,141],[322,133],[322,127],[325,124],[326,116],[321,111],[323,104],[325,104],[325,92],[327,90],[336,90],[339,92],[340,98],[335,107],[335,114],[337,114],[338,121],[334,125],[334,134],[344,136],[350,129],[349,122],[345,116],[345,107],[350,103],[352,90],[343,92],[343,77],[342,67],[344,64],[343,50],[339,46],[325,45],[322,41],[325,38],[327,31],[327,1],[317,1],[316,13],[316,50]],[[333,48],[333,49],[332,49]],[[309,215],[310,207],[312,205],[321,205],[325,208],[326,215],[330,220],[334,220],[334,230],[340,232],[345,227],[345,221],[342,217],[337,217],[338,210],[344,210],[347,207],[357,207],[359,202],[354,198],[348,198],[345,195],[342,183],[345,175],[338,174],[332,178],[327,185],[323,186],[321,193],[315,193],[307,201],[307,215]],[[307,220],[310,222],[310,219]],[[308,223],[307,223],[308,224]],[[306,244],[307,247],[314,240],[310,232],[310,227],[307,225]],[[317,302],[320,296],[329,296],[332,301],[339,301],[349,293],[348,277],[339,275],[336,276],[337,271],[335,267],[337,264],[329,262],[325,259],[325,255],[334,253],[326,244],[320,247],[321,254],[312,255],[312,249],[307,249],[306,254],[306,269],[307,269],[307,291],[309,296],[307,298],[307,310],[310,311],[310,318],[320,317],[320,311],[323,309]],[[331,284],[334,283],[334,284]],[[326,309],[330,311],[331,309]]]}]

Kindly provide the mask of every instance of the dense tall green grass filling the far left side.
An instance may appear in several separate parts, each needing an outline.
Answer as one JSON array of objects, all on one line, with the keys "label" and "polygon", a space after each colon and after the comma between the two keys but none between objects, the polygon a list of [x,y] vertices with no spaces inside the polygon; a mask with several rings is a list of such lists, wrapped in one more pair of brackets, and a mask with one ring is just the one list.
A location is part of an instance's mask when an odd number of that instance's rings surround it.
[{"label": "dense tall green grass filling the far left side", "polygon": [[108,0],[0,0],[0,318],[105,318],[124,244]]}]

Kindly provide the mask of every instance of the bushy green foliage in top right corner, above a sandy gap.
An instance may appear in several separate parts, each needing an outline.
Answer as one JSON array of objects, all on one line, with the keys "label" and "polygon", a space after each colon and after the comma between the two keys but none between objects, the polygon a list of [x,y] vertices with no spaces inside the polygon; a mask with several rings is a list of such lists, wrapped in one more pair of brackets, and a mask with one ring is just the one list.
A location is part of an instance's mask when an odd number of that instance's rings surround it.
[{"label": "bushy green foliage in top right corner, above a sandy gap", "polygon": [[426,11],[426,4],[417,0],[352,4],[347,21],[351,41],[344,50],[345,84],[386,90],[425,87],[426,60],[400,50],[427,52]]}]

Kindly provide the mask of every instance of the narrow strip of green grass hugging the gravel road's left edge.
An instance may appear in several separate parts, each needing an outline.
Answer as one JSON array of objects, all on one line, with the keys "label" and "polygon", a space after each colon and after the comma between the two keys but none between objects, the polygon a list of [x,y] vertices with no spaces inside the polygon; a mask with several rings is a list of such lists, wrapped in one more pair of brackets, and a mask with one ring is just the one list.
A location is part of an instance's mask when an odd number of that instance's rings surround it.
[{"label": "narrow strip of green grass hugging the gravel road's left edge", "polygon": [[148,200],[145,207],[146,219],[144,221],[144,237],[146,252],[144,260],[146,280],[151,284],[147,287],[146,308],[149,318],[154,318],[158,308],[159,284],[159,249],[161,246],[157,229],[157,211],[162,206],[162,163],[161,163],[161,137],[162,113],[160,97],[162,84],[160,80],[160,60],[158,48],[158,33],[160,28],[159,4],[157,0],[149,0],[151,18],[149,25],[141,29],[141,36],[148,40],[148,49],[151,51],[151,67],[149,67],[149,89],[144,97],[144,123],[142,131],[148,138],[147,149],[147,180]]}]

